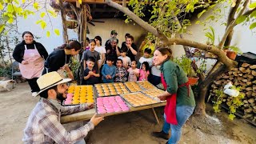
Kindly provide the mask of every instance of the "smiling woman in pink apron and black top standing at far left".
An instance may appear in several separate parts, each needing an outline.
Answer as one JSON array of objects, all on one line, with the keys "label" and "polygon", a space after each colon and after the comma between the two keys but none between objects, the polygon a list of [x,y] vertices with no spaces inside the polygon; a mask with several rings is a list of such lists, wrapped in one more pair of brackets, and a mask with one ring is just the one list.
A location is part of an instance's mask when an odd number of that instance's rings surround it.
[{"label": "smiling woman in pink apron and black top standing at far left", "polygon": [[14,48],[13,57],[19,62],[22,77],[29,83],[32,96],[36,96],[39,91],[37,79],[42,74],[48,53],[41,43],[34,41],[34,35],[30,31],[24,31],[22,38],[23,41]]}]

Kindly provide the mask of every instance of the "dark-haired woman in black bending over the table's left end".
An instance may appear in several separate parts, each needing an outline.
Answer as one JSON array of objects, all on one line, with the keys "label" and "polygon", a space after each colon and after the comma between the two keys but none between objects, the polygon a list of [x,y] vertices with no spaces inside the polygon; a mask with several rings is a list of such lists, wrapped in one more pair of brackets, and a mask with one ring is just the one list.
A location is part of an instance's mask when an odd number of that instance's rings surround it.
[{"label": "dark-haired woman in black bending over the table's left end", "polygon": [[[70,62],[70,57],[79,54],[82,49],[81,44],[78,41],[70,41],[69,44],[63,44],[58,47],[58,50],[54,50],[45,62],[45,69],[42,74],[49,73],[51,71],[66,70],[68,77],[74,79],[74,75],[70,70],[68,63]],[[62,77],[64,77],[62,75]]]}]

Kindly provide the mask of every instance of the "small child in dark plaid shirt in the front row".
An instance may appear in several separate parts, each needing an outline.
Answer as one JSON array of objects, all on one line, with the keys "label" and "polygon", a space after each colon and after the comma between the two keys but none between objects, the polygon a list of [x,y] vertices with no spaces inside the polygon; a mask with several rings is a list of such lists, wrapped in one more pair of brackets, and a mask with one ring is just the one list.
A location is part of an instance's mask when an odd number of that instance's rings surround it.
[{"label": "small child in dark plaid shirt in the front row", "polygon": [[126,82],[127,71],[126,68],[122,67],[122,59],[117,60],[117,73],[115,74],[114,82]]}]

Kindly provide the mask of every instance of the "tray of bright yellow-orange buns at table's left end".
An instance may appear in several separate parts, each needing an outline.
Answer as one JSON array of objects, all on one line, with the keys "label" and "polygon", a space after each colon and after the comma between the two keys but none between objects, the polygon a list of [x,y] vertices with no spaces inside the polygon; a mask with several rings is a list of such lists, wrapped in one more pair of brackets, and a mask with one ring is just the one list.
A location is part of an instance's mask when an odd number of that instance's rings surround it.
[{"label": "tray of bright yellow-orange buns at table's left end", "polygon": [[68,94],[66,94],[66,100],[64,105],[78,105],[82,103],[94,102],[94,88],[91,85],[88,86],[69,86]]}]

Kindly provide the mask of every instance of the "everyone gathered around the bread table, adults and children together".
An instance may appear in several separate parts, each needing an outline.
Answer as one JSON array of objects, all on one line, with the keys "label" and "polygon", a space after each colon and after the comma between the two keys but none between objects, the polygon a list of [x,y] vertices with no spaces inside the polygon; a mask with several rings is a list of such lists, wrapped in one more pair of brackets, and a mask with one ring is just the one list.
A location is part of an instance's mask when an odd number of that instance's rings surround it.
[{"label": "everyone gathered around the bread table, adults and children together", "polygon": [[[186,74],[172,61],[170,49],[152,50],[154,46],[150,42],[148,46],[144,45],[143,57],[136,62],[135,55],[138,50],[134,45],[134,38],[126,34],[126,42],[122,42],[122,47],[119,48],[116,35],[117,32],[112,30],[111,38],[106,42],[105,48],[99,36],[90,40],[89,46],[84,46],[85,51],[82,54],[85,68],[84,84],[100,81],[134,82],[147,79],[154,82],[161,81],[166,91],[159,94],[158,98],[166,100],[165,122],[162,131],[153,132],[152,135],[169,139],[166,143],[177,143],[182,134],[182,126],[193,114],[195,106],[194,94]],[[94,129],[94,126],[102,122],[103,117],[94,115],[85,126],[72,131],[66,131],[60,123],[63,114],[73,114],[94,107],[92,103],[79,106],[60,105],[66,99],[68,89],[66,82],[74,78],[68,66],[70,57],[81,52],[81,44],[70,41],[48,55],[44,46],[35,42],[33,34],[29,31],[25,31],[22,38],[23,41],[14,49],[13,57],[20,63],[22,76],[29,82],[32,95],[40,95],[38,104],[28,118],[22,140],[25,143],[84,142],[83,138]],[[153,51],[154,58],[151,57]],[[66,70],[69,78],[62,78],[57,72],[60,70]]]}]

